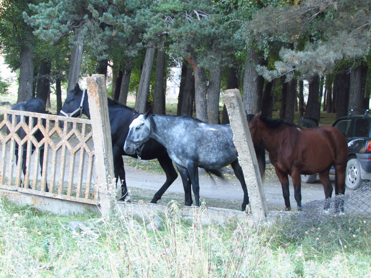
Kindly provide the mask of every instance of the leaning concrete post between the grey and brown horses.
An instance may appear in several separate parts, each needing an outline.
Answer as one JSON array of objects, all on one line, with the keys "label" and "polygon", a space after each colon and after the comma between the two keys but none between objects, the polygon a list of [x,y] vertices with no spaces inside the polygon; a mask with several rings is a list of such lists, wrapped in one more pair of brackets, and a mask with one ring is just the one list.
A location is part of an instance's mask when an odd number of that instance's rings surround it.
[{"label": "leaning concrete post between the grey and brown horses", "polygon": [[259,172],[254,145],[251,139],[246,113],[243,108],[241,93],[238,89],[226,90],[221,98],[227,107],[233,132],[234,146],[237,148],[239,163],[249,192],[249,205],[255,218],[265,217],[267,203],[263,182]]}]

